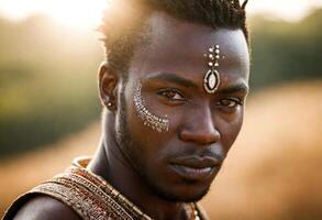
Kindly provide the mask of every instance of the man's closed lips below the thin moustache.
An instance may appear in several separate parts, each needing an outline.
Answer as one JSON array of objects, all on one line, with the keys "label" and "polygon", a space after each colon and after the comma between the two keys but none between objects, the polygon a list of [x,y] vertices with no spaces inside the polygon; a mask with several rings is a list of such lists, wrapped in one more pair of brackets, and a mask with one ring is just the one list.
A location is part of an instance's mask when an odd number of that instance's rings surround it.
[{"label": "man's closed lips below the thin moustache", "polygon": [[218,172],[222,162],[211,157],[187,157],[178,158],[170,163],[170,168],[180,177],[201,182],[206,180],[214,172]]}]

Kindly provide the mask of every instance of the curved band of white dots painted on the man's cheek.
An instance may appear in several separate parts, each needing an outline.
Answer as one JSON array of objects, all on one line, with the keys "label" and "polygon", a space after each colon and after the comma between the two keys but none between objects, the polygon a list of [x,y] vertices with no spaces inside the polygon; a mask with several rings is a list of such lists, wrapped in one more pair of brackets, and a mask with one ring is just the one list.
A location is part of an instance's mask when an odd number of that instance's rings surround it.
[{"label": "curved band of white dots painted on the man's cheek", "polygon": [[152,112],[145,107],[144,99],[141,95],[142,84],[137,84],[134,91],[134,107],[137,112],[138,118],[143,121],[144,125],[152,128],[158,132],[169,131],[169,119],[160,118]]}]

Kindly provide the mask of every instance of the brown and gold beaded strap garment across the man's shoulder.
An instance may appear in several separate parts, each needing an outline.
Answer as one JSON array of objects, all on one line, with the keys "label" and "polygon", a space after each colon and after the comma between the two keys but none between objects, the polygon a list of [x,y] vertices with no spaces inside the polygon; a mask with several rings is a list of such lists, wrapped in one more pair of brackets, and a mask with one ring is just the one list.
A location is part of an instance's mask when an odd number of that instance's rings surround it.
[{"label": "brown and gold beaded strap garment across the man's shoulder", "polygon": [[[90,158],[77,158],[65,173],[36,186],[18,199],[9,209],[7,217],[23,205],[34,194],[51,196],[73,208],[85,220],[152,220],[134,204],[123,197],[102,177],[86,169]],[[196,206],[195,220],[207,219],[200,207]],[[7,218],[3,218],[7,220]]]}]

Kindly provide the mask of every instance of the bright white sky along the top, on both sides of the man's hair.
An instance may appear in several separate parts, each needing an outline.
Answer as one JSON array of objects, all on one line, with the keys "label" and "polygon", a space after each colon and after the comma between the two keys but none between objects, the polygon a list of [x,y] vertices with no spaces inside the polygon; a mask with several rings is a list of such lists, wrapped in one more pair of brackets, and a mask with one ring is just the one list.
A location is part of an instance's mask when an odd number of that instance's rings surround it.
[{"label": "bright white sky along the top, on both sides of the man's hair", "polygon": [[[96,28],[109,0],[0,0],[0,15],[24,19],[33,13],[47,14],[73,28]],[[273,18],[300,20],[322,0],[256,0],[248,2],[248,12],[268,13]]]}]

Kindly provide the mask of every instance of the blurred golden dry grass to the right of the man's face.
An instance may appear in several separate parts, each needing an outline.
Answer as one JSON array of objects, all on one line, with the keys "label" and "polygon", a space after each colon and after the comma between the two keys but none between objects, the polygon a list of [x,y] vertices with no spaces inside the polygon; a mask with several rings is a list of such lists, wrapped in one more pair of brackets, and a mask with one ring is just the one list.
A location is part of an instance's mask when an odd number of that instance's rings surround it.
[{"label": "blurred golden dry grass to the right of the man's face", "polygon": [[244,129],[203,204],[211,219],[322,219],[322,82],[248,100]]}]

